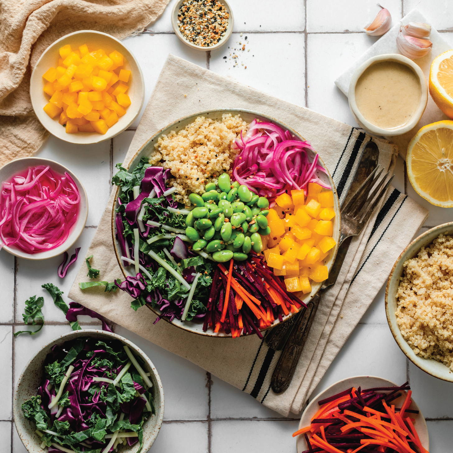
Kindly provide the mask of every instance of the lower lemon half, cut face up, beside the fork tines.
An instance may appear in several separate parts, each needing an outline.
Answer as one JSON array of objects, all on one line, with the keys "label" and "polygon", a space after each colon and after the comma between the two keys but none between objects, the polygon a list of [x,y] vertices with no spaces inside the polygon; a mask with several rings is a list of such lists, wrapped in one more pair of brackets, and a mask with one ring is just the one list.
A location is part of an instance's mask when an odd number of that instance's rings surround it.
[{"label": "lower lemon half, cut face up, beside the fork tines", "polygon": [[409,143],[406,164],[415,192],[436,206],[453,207],[453,121],[423,126]]}]

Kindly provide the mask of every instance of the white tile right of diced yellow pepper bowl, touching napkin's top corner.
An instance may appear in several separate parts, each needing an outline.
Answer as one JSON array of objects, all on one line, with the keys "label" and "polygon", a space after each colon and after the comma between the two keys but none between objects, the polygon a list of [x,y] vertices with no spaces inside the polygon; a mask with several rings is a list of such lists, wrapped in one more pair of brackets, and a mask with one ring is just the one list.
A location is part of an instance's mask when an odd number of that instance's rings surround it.
[{"label": "white tile right of diced yellow pepper bowl, touching napkin's top corner", "polygon": [[[206,67],[206,52],[189,48],[182,43],[175,34],[151,34],[142,33],[130,36],[123,40],[124,45],[137,58],[143,77],[145,79],[145,102],[139,117],[134,121],[136,127],[139,124],[141,114],[145,110],[149,96],[159,78],[160,70],[164,66],[169,53],[184,58],[199,66]],[[176,83],[177,81],[175,81]]]}]

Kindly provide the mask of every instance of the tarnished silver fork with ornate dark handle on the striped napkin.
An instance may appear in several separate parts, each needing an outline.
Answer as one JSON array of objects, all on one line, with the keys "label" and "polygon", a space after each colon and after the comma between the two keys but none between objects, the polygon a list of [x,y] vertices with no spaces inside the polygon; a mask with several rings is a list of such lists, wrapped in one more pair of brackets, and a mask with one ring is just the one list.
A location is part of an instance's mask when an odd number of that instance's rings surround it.
[{"label": "tarnished silver fork with ornate dark handle on the striped napkin", "polygon": [[[323,290],[332,286],[337,281],[338,274],[351,242],[351,239],[348,238],[357,236],[362,231],[393,179],[393,175],[388,178],[390,172],[387,172],[382,176],[383,171],[384,170],[381,167],[376,167],[357,189],[357,192],[352,195],[346,205],[342,207],[342,226],[335,262],[329,273],[328,279],[323,283],[318,294],[308,302],[307,308],[304,308],[300,314],[293,317],[295,318],[294,328],[290,330],[289,334],[284,335],[283,351],[271,378],[272,390],[274,390],[275,393],[284,392],[294,376],[296,365],[299,361],[300,354],[304,349],[308,332],[310,331],[314,316],[318,310]],[[371,190],[372,192],[370,193]],[[281,324],[282,327],[284,324],[285,323]],[[284,330],[286,331],[287,329]],[[268,345],[269,344],[270,343],[268,343]]]}]

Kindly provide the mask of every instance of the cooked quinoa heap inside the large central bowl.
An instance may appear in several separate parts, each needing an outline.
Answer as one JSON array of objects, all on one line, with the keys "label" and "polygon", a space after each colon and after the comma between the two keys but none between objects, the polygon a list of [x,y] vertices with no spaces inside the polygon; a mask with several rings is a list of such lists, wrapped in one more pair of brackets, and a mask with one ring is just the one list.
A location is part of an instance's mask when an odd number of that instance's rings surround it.
[{"label": "cooked quinoa heap inside the large central bowl", "polygon": [[177,188],[174,199],[189,205],[191,192],[203,193],[207,182],[217,183],[219,174],[230,170],[241,130],[246,132],[247,123],[239,115],[223,114],[221,121],[199,116],[178,133],[159,137],[149,163],[170,170],[174,178],[168,186]]}]

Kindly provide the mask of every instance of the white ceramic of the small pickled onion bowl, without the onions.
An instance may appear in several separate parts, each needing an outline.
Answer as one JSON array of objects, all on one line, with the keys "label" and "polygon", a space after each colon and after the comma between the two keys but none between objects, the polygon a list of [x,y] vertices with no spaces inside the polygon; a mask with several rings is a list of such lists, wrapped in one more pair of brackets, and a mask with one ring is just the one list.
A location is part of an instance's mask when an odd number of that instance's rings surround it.
[{"label": "white ceramic of the small pickled onion bowl, without the onions", "polygon": [[[62,164],[55,162],[54,160],[43,159],[41,157],[23,157],[20,159],[15,159],[0,168],[0,186],[5,182],[10,182],[11,178],[13,178],[14,176],[26,172],[27,169],[38,166],[45,167],[48,166],[51,171],[53,171],[54,173],[58,173],[60,176],[64,175],[65,173],[68,173],[69,176],[72,178],[72,181],[74,182],[75,186],[77,187],[77,191],[80,196],[80,201],[78,202],[78,212],[77,217],[75,218],[75,222],[70,226],[67,238],[60,245],[55,246],[54,248],[51,249],[37,251],[34,253],[29,253],[14,245],[3,246],[3,250],[19,258],[25,258],[26,260],[45,260],[48,258],[53,258],[55,256],[61,255],[64,251],[67,251],[67,249],[72,247],[72,245],[74,245],[79,236],[82,234],[85,224],[87,223],[88,217],[88,197],[87,193],[85,192],[85,188],[83,187],[82,183],[77,178],[77,176],[74,173],[72,173],[71,170],[67,169]],[[2,207],[2,202],[0,201],[0,216],[3,215],[2,212],[4,211]],[[23,217],[20,218],[25,217],[26,213],[24,214]],[[0,225],[1,221],[2,218],[0,218]]]}]

